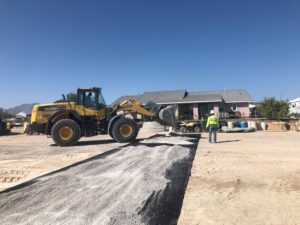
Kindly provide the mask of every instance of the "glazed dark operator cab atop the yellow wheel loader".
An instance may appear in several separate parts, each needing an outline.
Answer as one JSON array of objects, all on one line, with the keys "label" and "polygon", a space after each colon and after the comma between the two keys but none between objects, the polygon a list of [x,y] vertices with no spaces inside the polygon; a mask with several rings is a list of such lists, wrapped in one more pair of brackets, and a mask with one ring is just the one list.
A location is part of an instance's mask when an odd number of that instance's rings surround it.
[{"label": "glazed dark operator cab atop the yellow wheel loader", "polygon": [[82,105],[94,110],[106,108],[101,88],[78,88],[77,105]]}]

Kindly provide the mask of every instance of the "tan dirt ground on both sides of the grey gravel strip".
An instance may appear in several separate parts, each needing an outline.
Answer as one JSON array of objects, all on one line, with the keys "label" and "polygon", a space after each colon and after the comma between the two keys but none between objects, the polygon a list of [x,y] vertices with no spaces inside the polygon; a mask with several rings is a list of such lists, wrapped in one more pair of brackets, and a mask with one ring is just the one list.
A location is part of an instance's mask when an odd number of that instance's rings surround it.
[{"label": "tan dirt ground on both sides of the grey gravel strip", "polygon": [[[80,141],[1,136],[0,190],[121,146],[108,136]],[[217,144],[203,133],[178,224],[300,224],[300,132],[219,133]]]}]

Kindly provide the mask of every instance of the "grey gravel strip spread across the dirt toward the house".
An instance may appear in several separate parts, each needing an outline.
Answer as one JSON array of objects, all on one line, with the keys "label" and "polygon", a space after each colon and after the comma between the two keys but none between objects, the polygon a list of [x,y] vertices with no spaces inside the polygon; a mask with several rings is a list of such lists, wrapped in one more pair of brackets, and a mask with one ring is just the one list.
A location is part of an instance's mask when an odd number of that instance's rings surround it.
[{"label": "grey gravel strip spread across the dirt toward the house", "polygon": [[195,143],[149,139],[0,193],[1,224],[175,224],[166,217],[182,200]]}]

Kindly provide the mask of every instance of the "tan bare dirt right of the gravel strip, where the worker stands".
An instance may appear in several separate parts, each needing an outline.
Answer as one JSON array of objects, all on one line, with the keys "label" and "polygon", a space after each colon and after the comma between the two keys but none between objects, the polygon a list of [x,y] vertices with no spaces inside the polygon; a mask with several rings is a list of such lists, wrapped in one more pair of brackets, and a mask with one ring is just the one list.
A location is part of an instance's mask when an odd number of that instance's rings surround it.
[{"label": "tan bare dirt right of the gravel strip, where the worker stands", "polygon": [[179,225],[300,224],[300,132],[202,137]]}]

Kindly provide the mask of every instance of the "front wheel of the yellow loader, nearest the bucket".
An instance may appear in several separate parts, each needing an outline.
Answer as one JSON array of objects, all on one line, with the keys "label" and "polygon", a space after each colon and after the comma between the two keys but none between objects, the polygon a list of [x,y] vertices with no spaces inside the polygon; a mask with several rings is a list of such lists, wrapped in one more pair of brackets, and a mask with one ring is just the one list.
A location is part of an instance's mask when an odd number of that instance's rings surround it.
[{"label": "front wheel of the yellow loader, nearest the bucket", "polygon": [[137,123],[125,117],[117,120],[112,127],[112,135],[118,142],[133,141],[138,135],[138,132],[139,128]]}]

